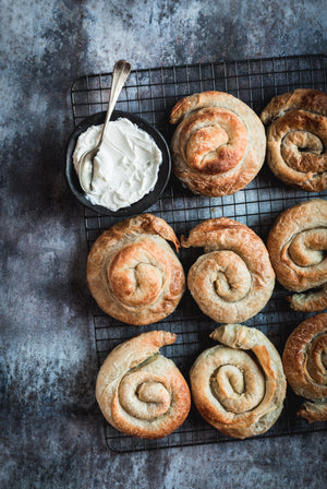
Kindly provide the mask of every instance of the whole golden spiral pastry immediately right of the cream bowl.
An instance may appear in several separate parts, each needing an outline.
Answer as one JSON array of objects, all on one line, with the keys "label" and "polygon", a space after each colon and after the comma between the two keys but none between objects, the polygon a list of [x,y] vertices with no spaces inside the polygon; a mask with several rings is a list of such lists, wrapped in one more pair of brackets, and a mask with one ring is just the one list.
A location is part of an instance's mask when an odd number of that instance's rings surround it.
[{"label": "whole golden spiral pastry immediately right of the cream bowl", "polygon": [[265,159],[265,129],[243,102],[222,92],[179,100],[170,122],[172,169],[194,193],[229,195],[243,189]]}]

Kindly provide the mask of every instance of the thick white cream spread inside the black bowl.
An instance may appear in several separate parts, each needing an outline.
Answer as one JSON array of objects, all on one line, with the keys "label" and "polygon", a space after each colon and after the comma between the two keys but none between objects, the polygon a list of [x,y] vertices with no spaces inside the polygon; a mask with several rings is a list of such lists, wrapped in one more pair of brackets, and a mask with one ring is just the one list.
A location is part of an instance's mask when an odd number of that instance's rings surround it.
[{"label": "thick white cream spread inside the black bowl", "polygon": [[[97,144],[101,128],[92,126],[80,135],[73,154],[77,175],[82,155]],[[154,189],[161,160],[147,132],[125,118],[111,121],[94,158],[93,191],[86,198],[110,211],[126,207]]]}]

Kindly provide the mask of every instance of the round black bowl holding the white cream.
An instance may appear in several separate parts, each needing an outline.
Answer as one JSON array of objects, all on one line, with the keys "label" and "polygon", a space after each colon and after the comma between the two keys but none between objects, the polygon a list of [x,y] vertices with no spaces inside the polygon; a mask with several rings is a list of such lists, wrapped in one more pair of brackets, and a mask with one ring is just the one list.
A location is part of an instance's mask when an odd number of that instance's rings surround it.
[{"label": "round black bowl holding the white cream", "polygon": [[133,214],[141,214],[142,212],[144,212],[148,207],[150,207],[164,192],[164,190],[168,183],[168,180],[170,177],[170,169],[171,169],[169,148],[168,148],[168,145],[167,145],[165,139],[162,138],[162,135],[155,128],[153,128],[148,122],[146,122],[145,120],[143,120],[140,117],[134,116],[133,114],[130,114],[130,112],[114,110],[112,112],[110,120],[116,120],[116,119],[119,119],[120,117],[125,117],[131,122],[137,124],[138,128],[146,131],[155,140],[157,146],[159,147],[159,150],[161,151],[161,154],[162,154],[162,162],[159,166],[157,183],[156,183],[155,188],[149,193],[144,195],[143,199],[135,202],[134,204],[129,205],[128,207],[122,207],[122,208],[119,208],[118,211],[110,211],[109,208],[104,207],[101,205],[93,205],[86,199],[85,192],[80,184],[80,180],[78,180],[78,177],[75,171],[74,164],[73,164],[73,153],[74,153],[74,150],[76,146],[77,139],[78,139],[80,134],[82,132],[86,131],[87,128],[89,128],[90,126],[99,126],[99,124],[104,123],[105,118],[106,118],[106,112],[98,112],[93,116],[89,116],[77,126],[77,128],[71,134],[71,138],[70,138],[70,141],[68,144],[66,162],[65,162],[65,177],[66,177],[68,184],[69,184],[71,191],[73,192],[73,194],[75,195],[75,198],[81,202],[81,204],[86,205],[87,207],[89,207],[93,211],[96,211],[100,214],[105,214],[108,216],[117,216],[117,217],[129,216],[129,215],[133,215]]}]

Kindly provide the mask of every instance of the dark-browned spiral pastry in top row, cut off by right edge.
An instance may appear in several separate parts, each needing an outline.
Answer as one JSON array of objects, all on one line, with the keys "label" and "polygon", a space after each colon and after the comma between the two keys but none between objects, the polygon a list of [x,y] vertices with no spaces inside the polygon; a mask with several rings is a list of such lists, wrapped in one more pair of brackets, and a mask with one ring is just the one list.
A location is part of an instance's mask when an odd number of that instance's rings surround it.
[{"label": "dark-browned spiral pastry in top row, cut off by right edge", "polygon": [[318,192],[327,188],[327,95],[295,90],[278,95],[261,115],[267,159],[284,183]]}]

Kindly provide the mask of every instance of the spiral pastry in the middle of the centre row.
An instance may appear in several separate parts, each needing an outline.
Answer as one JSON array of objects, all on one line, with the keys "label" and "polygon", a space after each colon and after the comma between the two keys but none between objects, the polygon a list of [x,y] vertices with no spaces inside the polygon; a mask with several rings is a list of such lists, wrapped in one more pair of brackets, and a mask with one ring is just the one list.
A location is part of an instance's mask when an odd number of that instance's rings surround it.
[{"label": "spiral pastry in the middle of the centre row", "polygon": [[201,310],[217,322],[245,321],[269,300],[275,273],[267,249],[247,226],[220,217],[195,226],[182,247],[203,247],[192,265],[189,289]]}]

